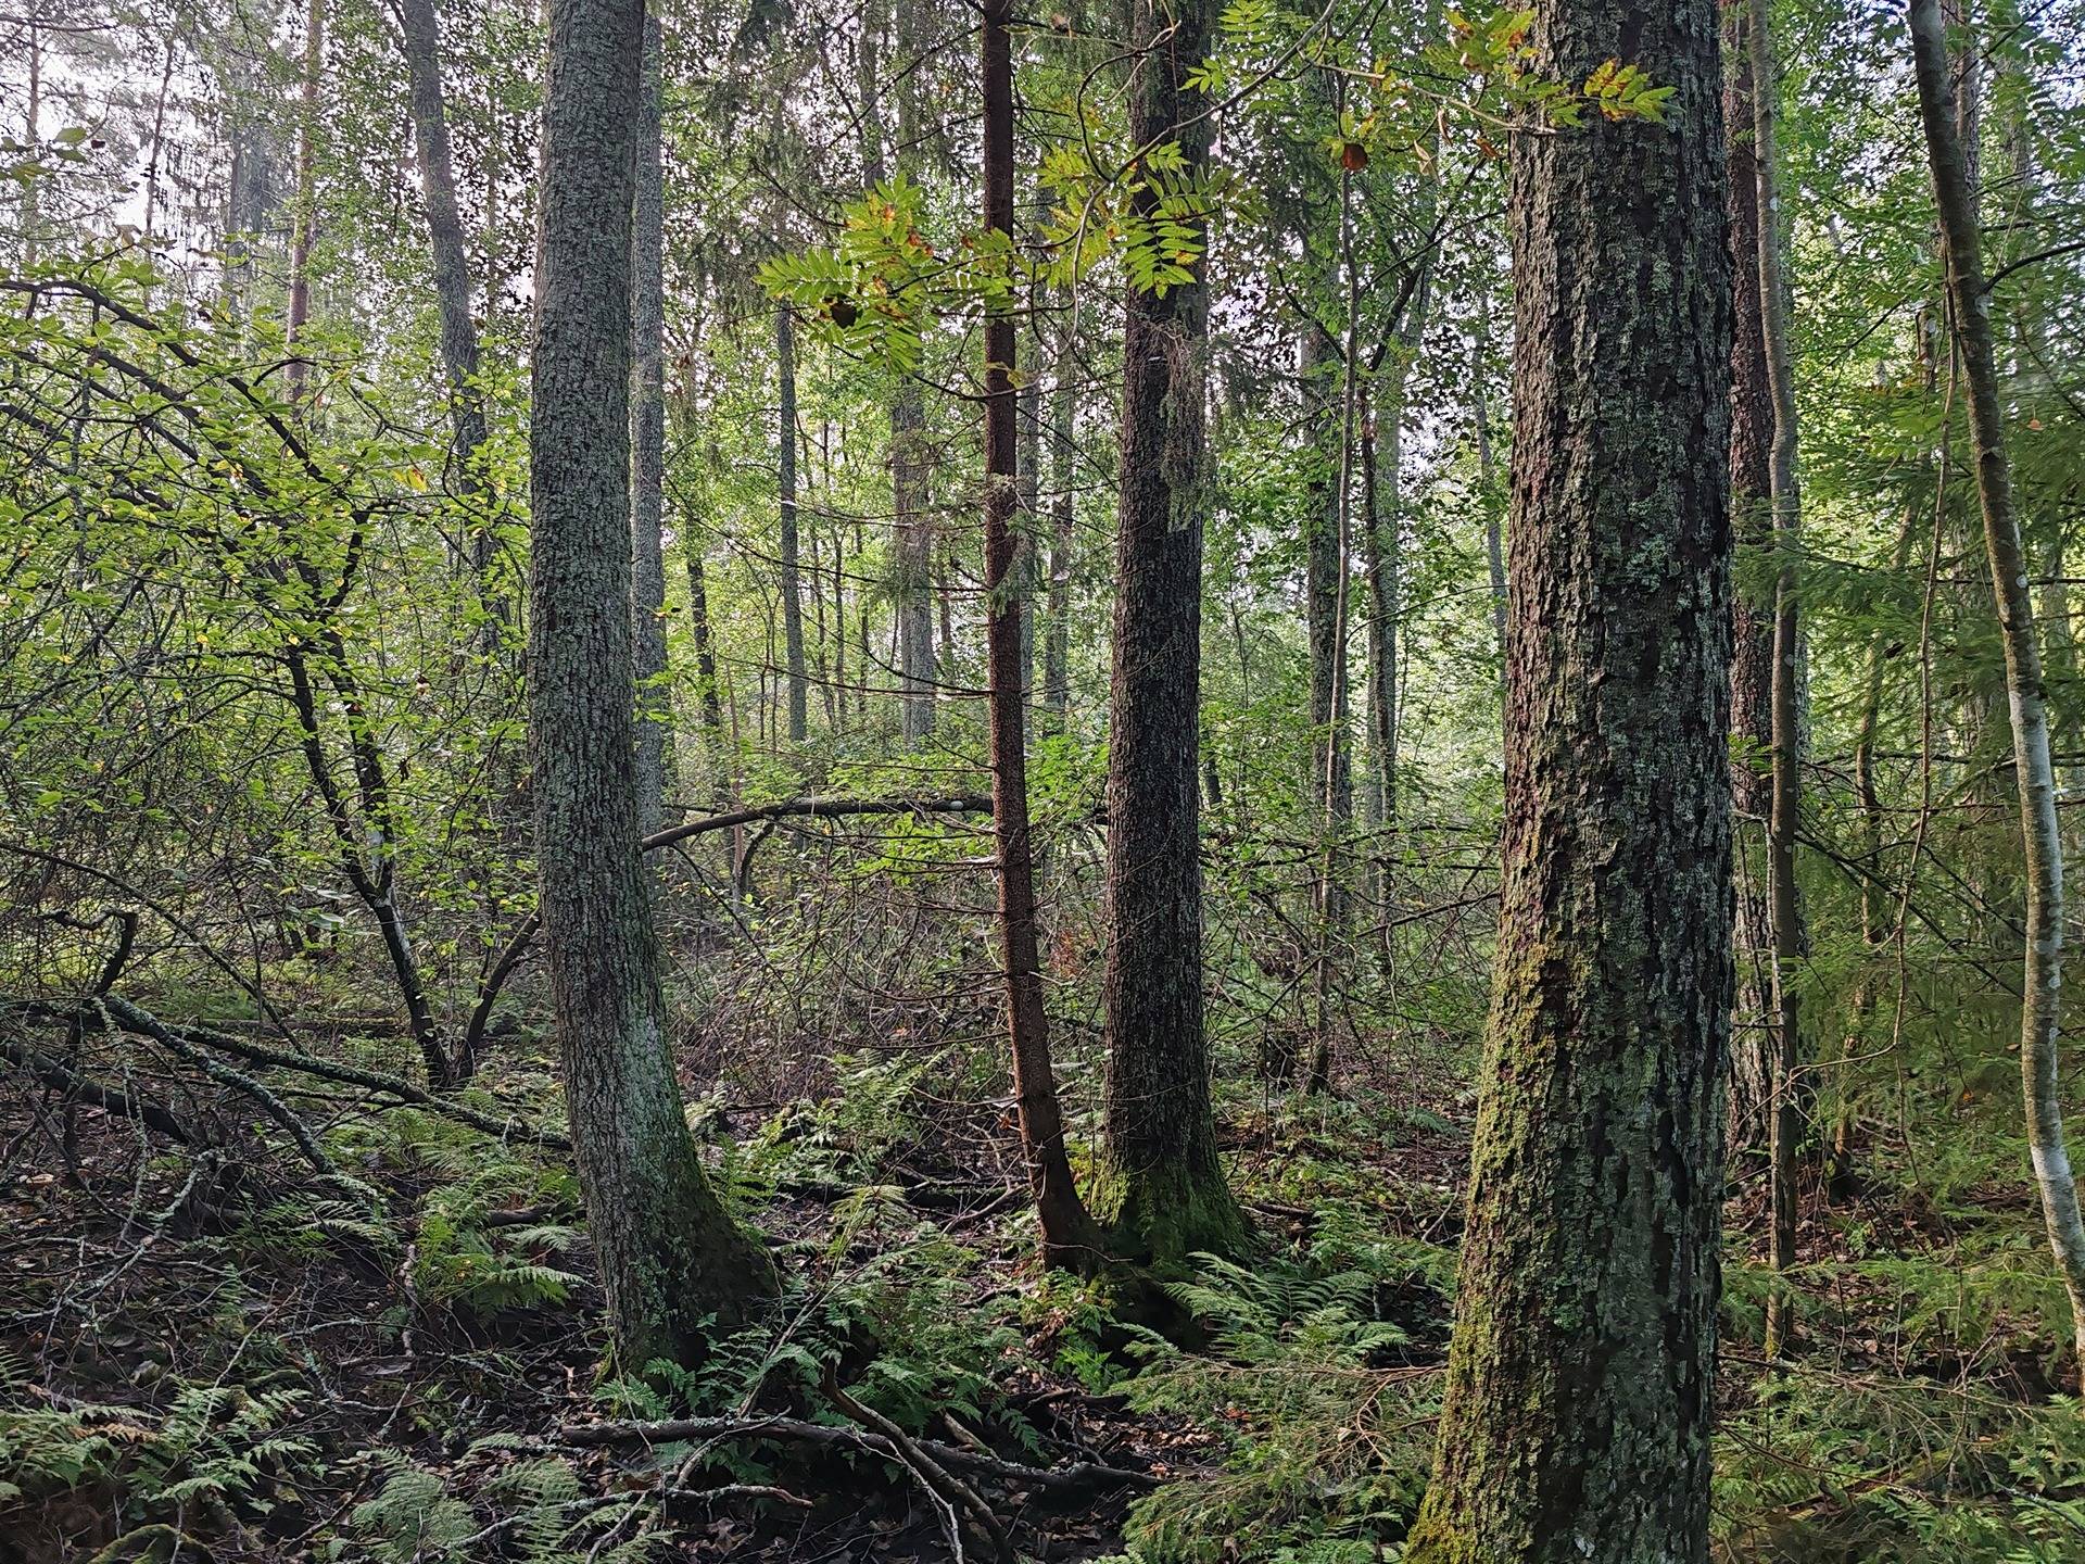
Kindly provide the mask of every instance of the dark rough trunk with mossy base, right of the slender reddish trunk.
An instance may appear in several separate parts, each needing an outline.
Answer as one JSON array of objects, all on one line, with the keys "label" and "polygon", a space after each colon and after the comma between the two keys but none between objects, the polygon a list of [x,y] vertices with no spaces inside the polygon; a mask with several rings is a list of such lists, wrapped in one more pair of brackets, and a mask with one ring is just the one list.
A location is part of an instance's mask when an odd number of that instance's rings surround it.
[{"label": "dark rough trunk with mossy base, right of the slender reddish trunk", "polygon": [[[1209,6],[1186,0],[1161,10],[1157,0],[1134,0],[1130,27],[1132,48],[1149,50],[1130,83],[1130,140],[1174,138],[1186,169],[1201,169],[1209,125],[1197,119],[1199,94],[1182,79],[1209,46]],[[1132,288],[1124,309],[1101,1184],[1118,1249],[1176,1266],[1197,1249],[1236,1249],[1245,1237],[1216,1153],[1201,999],[1207,282],[1197,275],[1163,296]]]}]

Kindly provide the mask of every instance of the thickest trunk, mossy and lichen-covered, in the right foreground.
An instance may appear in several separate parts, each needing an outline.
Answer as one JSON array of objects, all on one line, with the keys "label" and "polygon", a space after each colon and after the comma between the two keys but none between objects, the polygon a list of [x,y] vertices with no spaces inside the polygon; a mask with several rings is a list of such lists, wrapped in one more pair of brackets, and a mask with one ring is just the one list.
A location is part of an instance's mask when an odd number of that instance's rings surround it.
[{"label": "thickest trunk, mossy and lichen-covered, in the right foreground", "polygon": [[1409,1564],[1699,1564],[1731,1024],[1731,263],[1712,0],[1564,0],[1662,125],[1514,142],[1505,842],[1462,1297]]}]

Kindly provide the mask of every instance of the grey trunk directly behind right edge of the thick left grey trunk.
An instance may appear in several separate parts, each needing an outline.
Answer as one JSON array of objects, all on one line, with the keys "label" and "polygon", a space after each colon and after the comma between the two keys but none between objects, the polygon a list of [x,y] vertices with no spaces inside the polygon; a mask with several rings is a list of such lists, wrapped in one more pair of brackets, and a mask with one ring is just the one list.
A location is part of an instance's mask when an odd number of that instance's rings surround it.
[{"label": "grey trunk directly behind right edge of the thick left grey trunk", "polygon": [[665,682],[665,102],[657,13],[644,17],[644,102],[630,250],[630,632],[638,678],[638,830],[665,813],[673,699]]}]

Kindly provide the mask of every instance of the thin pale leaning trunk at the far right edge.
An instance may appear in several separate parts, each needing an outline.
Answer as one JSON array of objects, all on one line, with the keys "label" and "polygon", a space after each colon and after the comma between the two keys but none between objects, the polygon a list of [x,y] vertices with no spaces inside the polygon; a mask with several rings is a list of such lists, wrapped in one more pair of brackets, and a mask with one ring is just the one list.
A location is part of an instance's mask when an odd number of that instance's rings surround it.
[{"label": "thin pale leaning trunk at the far right edge", "polygon": [[1983,277],[1974,184],[1958,131],[1947,38],[1937,0],[1910,0],[1912,63],[1927,158],[1947,250],[1947,298],[1956,352],[1968,382],[1968,425],[1977,446],[1977,498],[1991,563],[1997,628],[2006,644],[2006,697],[2012,715],[2012,765],[2020,790],[2020,838],[2027,851],[2027,955],[2020,993],[2020,1086],[2027,1147],[2041,1193],[2056,1268],[2070,1295],[2077,1355],[2085,1372],[2085,1220],[2064,1147],[2058,1080],[2062,1020],[2064,857],[2056,828],[2056,774],[2050,763],[2050,715],[2035,642],[2027,551],[2012,509],[2006,423],[1991,348],[1991,294]]}]

